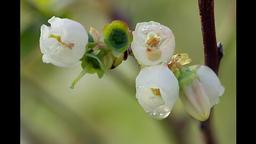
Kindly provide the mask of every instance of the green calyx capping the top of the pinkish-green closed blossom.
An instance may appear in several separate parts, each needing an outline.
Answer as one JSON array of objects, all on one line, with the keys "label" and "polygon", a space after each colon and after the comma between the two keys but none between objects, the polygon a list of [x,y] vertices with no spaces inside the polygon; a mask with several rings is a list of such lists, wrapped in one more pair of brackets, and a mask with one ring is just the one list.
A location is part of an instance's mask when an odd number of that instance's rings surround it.
[{"label": "green calyx capping the top of the pinkish-green closed blossom", "polygon": [[183,85],[190,85],[194,82],[195,79],[198,79],[200,81],[198,75],[190,71],[185,71],[184,73],[181,73],[180,76],[178,77],[180,91],[182,91]]}]

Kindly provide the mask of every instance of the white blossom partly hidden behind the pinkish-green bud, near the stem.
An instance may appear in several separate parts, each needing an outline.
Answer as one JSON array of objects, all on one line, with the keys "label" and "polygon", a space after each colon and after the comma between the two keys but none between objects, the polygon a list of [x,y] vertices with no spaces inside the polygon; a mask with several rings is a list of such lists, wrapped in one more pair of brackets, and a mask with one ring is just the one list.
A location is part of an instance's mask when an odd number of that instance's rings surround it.
[{"label": "white blossom partly hidden behind the pinkish-green bud, near the stem", "polygon": [[203,65],[196,70],[196,74],[205,87],[207,95],[209,95],[211,107],[214,106],[219,102],[219,96],[225,91],[220,83],[220,79],[211,68]]}]

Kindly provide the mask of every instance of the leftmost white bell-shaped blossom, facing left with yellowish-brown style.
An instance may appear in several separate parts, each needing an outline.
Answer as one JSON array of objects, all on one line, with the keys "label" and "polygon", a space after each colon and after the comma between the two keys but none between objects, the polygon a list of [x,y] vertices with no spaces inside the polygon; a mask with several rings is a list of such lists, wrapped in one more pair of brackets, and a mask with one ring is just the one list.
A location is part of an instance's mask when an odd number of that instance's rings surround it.
[{"label": "leftmost white bell-shaped blossom, facing left with yellowish-brown style", "polygon": [[88,43],[86,29],[73,20],[52,17],[48,20],[50,27],[41,26],[39,39],[43,62],[59,67],[71,67],[79,61]]}]

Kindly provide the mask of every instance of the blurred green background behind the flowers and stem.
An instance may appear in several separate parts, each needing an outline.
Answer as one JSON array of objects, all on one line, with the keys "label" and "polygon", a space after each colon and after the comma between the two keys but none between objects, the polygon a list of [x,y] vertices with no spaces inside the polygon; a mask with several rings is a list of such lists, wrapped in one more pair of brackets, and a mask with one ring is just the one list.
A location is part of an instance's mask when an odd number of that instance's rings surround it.
[{"label": "blurred green background behind the flowers and stem", "polygon": [[[140,67],[133,57],[98,79],[86,74],[75,89],[69,84],[82,68],[60,68],[42,62],[40,27],[53,15],[75,20],[89,30],[123,19],[154,20],[170,27],[175,52],[203,64],[197,1],[34,0],[20,1],[20,143],[204,143],[199,123],[181,102],[162,121],[147,116],[135,98]],[[214,106],[214,132],[219,143],[236,143],[236,1],[215,0],[217,41],[223,44],[219,78],[225,93]]]}]

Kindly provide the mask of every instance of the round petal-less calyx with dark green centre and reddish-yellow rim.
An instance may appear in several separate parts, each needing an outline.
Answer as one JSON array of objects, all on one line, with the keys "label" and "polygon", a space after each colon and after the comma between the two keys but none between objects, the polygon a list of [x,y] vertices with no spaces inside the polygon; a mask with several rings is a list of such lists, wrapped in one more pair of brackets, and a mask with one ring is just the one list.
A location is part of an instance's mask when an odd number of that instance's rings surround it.
[{"label": "round petal-less calyx with dark green centre and reddish-yellow rim", "polygon": [[111,24],[105,25],[102,34],[105,37],[104,42],[107,49],[116,52],[128,50],[133,39],[129,26],[122,20],[115,20]]}]

